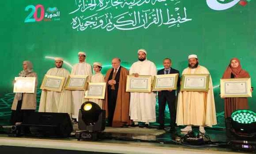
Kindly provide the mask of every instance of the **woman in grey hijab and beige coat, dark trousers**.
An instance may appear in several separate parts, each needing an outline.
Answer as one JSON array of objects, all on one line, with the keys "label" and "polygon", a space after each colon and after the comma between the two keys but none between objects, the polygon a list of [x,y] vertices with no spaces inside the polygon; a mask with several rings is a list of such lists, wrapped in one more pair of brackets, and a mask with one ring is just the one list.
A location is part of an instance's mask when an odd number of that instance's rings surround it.
[{"label": "woman in grey hijab and beige coat, dark trousers", "polygon": [[33,70],[30,61],[23,61],[23,70],[19,73],[19,77],[36,77],[34,93],[16,93],[12,104],[12,113],[10,122],[12,124],[20,123],[23,115],[27,112],[34,112],[37,105],[37,74]]}]

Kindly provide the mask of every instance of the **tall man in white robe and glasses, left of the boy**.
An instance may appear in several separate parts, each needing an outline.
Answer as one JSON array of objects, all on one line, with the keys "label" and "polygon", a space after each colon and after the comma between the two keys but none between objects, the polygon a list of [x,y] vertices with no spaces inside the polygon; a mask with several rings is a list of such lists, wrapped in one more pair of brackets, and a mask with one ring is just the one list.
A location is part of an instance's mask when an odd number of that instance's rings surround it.
[{"label": "tall man in white robe and glasses, left of the boy", "polygon": [[[92,66],[85,62],[86,54],[84,52],[78,53],[79,63],[73,66],[71,75],[89,75],[88,82],[92,76]],[[81,108],[84,98],[84,90],[73,90],[72,91],[72,118],[78,121],[78,112]]]}]

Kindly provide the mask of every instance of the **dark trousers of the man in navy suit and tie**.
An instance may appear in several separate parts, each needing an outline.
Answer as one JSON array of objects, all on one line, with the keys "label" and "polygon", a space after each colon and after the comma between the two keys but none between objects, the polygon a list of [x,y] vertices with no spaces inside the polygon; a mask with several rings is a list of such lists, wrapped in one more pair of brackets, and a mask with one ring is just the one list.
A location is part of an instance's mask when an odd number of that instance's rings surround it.
[{"label": "dark trousers of the man in navy suit and tie", "polygon": [[163,126],[164,125],[164,111],[166,102],[169,107],[169,113],[170,113],[170,124],[171,127],[175,127],[175,121],[176,121],[176,109],[175,109],[175,91],[167,91],[163,90],[161,92],[158,92],[158,123]]}]

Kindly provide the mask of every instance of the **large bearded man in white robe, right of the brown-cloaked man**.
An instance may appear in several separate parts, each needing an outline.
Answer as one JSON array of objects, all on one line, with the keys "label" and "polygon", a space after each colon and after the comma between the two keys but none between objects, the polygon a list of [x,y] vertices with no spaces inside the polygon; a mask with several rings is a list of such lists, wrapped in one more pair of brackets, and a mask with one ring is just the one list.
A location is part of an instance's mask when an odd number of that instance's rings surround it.
[{"label": "large bearded man in white robe, right of the brown-cloaked man", "polygon": [[[152,78],[157,75],[157,69],[152,61],[146,59],[147,52],[144,49],[138,50],[139,61],[134,62],[129,70],[130,75],[138,77],[140,75],[150,75]],[[134,127],[138,122],[145,122],[145,127],[149,127],[149,122],[156,121],[156,93],[131,92],[130,117],[134,121]]]}]

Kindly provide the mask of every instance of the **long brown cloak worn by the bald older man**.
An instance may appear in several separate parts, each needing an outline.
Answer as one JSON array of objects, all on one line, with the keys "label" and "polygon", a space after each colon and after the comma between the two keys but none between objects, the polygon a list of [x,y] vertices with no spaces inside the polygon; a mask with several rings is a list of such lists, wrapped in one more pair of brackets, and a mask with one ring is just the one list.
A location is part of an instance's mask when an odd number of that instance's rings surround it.
[{"label": "long brown cloak worn by the bald older man", "polygon": [[[129,72],[124,67],[120,67],[120,78],[119,78],[119,87],[116,98],[116,108],[113,116],[112,127],[121,127],[125,124],[130,124],[129,120],[129,107],[130,107],[130,93],[125,92],[126,88],[126,79],[129,75]],[[105,76],[105,82],[107,83],[113,68],[109,69]],[[118,82],[118,81],[116,81]],[[108,117],[108,95],[107,95],[107,86],[105,101],[103,103],[103,110],[106,110],[106,117]]]}]

